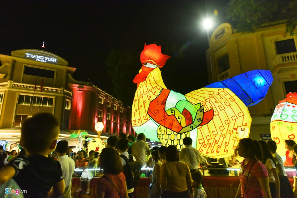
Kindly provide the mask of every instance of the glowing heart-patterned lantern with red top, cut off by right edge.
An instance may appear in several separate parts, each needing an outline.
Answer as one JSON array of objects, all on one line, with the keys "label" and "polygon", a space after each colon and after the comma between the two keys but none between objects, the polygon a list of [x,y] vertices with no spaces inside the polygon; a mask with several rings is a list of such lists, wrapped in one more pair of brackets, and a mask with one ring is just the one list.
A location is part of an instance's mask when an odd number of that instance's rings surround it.
[{"label": "glowing heart-patterned lantern with red top, cut off by right edge", "polygon": [[287,97],[276,105],[271,117],[270,133],[280,155],[286,153],[285,140],[297,142],[297,93],[288,93]]}]

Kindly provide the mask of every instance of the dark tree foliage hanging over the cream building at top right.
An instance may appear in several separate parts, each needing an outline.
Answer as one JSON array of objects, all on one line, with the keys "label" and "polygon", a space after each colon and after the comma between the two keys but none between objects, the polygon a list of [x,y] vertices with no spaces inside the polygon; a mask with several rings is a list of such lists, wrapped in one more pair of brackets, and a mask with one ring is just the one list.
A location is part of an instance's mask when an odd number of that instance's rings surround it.
[{"label": "dark tree foliage hanging over the cream building at top right", "polygon": [[286,32],[294,35],[297,0],[231,0],[227,18],[237,22],[237,32],[254,32],[262,24],[287,19]]}]

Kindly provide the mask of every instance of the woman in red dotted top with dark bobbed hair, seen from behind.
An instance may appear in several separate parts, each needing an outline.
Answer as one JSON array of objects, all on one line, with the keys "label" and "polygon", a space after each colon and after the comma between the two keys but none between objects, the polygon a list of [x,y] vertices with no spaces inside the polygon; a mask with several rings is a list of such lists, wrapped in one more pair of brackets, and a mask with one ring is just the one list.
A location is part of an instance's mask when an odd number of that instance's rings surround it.
[{"label": "woman in red dotted top with dark bobbed hair, seen from behind", "polygon": [[98,167],[104,170],[104,175],[96,184],[96,198],[128,198],[126,178],[118,151],[112,147],[102,149]]}]

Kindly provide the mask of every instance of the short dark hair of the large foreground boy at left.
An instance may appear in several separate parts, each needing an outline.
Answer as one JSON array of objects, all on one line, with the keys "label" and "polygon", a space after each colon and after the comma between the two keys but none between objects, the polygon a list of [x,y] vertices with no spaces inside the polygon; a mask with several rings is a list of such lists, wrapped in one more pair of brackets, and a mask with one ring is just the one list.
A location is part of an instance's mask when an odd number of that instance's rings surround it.
[{"label": "short dark hair of the large foreground boy at left", "polygon": [[38,113],[25,119],[21,128],[21,145],[29,152],[45,151],[50,148],[60,130],[58,120],[50,113]]}]

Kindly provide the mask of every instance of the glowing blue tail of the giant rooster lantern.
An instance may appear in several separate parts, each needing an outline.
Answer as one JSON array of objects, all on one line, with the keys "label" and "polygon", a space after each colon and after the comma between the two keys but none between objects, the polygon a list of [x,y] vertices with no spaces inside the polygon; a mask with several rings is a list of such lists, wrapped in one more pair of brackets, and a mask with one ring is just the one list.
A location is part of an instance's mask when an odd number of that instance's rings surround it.
[{"label": "glowing blue tail of the giant rooster lantern", "polygon": [[246,106],[259,103],[273,82],[269,70],[253,70],[207,85],[207,88],[229,88]]}]

